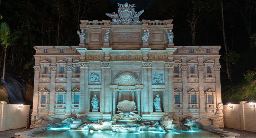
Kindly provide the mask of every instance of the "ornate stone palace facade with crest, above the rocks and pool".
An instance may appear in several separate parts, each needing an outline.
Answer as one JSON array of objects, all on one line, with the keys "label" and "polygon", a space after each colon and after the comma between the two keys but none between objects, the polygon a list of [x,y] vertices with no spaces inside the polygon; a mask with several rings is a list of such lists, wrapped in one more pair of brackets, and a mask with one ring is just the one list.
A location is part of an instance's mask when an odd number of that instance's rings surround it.
[{"label": "ornate stone palace facade with crest, above the rocks and pool", "polygon": [[118,4],[111,20],[81,20],[78,46],[35,46],[32,114],[209,124],[221,102],[220,46],[175,46],[172,20],[143,12]]}]

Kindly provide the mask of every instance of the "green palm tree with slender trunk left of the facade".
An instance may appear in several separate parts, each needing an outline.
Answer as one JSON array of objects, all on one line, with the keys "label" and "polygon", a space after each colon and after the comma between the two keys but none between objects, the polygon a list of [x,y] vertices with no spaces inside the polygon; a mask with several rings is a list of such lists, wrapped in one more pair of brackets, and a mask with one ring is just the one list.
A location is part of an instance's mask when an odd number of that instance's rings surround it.
[{"label": "green palm tree with slender trunk left of the facade", "polygon": [[4,79],[4,73],[5,73],[5,60],[6,60],[7,47],[11,46],[13,42],[17,40],[17,38],[18,38],[17,32],[11,34],[10,28],[6,22],[2,22],[0,24],[0,42],[4,50],[2,79]]}]

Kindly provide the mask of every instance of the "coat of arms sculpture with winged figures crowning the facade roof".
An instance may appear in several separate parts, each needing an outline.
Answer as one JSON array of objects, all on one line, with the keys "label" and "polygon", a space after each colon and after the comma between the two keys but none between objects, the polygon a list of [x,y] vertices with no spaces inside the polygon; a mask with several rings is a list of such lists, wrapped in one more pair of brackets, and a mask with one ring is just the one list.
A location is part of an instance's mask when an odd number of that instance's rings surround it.
[{"label": "coat of arms sculpture with winged figures crowning the facade roof", "polygon": [[106,13],[107,16],[113,18],[112,21],[114,24],[112,25],[136,25],[141,24],[139,21],[139,16],[144,12],[144,10],[140,12],[135,11],[134,4],[119,4],[118,3],[118,14],[116,12]]}]

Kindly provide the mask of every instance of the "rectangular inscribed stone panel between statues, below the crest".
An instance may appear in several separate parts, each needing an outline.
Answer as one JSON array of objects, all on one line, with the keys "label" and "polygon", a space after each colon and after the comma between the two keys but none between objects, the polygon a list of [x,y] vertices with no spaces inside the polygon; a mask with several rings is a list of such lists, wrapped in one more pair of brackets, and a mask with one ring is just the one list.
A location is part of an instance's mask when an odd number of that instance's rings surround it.
[{"label": "rectangular inscribed stone panel between statues, below the crest", "polygon": [[141,42],[140,32],[112,32],[112,43],[118,42]]}]

